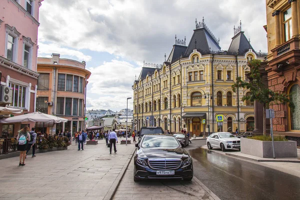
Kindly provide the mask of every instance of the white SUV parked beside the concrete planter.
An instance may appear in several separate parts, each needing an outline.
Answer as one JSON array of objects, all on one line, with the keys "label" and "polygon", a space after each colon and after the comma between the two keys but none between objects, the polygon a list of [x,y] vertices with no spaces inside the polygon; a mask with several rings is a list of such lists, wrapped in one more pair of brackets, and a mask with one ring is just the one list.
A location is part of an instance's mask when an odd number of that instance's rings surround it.
[{"label": "white SUV parked beside the concrete planter", "polygon": [[221,148],[222,151],[226,151],[237,148],[240,150],[240,138],[230,132],[214,132],[207,137],[206,144],[208,149]]}]

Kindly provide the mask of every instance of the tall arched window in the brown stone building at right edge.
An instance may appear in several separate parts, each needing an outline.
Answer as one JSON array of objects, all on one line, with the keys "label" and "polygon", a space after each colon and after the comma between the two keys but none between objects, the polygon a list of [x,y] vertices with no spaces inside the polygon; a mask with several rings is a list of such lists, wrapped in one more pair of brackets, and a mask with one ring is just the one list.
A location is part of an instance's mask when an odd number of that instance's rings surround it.
[{"label": "tall arched window in the brown stone building at right edge", "polygon": [[290,111],[290,129],[291,130],[300,130],[300,86],[294,84],[289,89],[290,100],[294,103],[295,108],[293,111]]}]

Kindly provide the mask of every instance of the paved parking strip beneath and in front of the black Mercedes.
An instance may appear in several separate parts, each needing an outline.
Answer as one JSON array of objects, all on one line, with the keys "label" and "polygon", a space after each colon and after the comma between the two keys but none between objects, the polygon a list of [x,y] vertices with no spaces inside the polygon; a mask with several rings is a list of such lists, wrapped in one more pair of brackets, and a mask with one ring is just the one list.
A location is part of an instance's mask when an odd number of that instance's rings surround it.
[{"label": "paved parking strip beneath and in front of the black Mercedes", "polygon": [[115,200],[177,200],[177,199],[219,199],[197,178],[183,180],[141,180],[133,181],[133,157],[113,196]]}]

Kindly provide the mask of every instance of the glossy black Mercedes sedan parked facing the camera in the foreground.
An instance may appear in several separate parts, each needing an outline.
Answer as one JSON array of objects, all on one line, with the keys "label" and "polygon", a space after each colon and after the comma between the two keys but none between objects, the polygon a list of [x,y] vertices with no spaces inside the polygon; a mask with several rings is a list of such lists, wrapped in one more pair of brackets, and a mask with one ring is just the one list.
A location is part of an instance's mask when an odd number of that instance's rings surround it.
[{"label": "glossy black Mercedes sedan parked facing the camera in the foreground", "polygon": [[150,178],[192,179],[192,158],[173,135],[146,134],[135,146],[134,181]]}]

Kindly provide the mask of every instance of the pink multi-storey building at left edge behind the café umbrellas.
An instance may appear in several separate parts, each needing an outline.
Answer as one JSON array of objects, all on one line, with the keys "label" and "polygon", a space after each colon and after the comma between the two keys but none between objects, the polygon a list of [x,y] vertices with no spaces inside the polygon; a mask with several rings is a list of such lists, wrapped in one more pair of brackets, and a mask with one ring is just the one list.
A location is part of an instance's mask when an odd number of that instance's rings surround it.
[{"label": "pink multi-storey building at left edge behind the caf\u00e9 umbrellas", "polygon": [[[0,106],[35,111],[38,10],[43,0],[0,0]],[[6,88],[9,87],[9,88]],[[9,98],[1,91],[10,90]],[[28,125],[28,124],[27,124]],[[32,127],[32,124],[29,124]],[[33,123],[34,125],[34,123]],[[0,135],[15,135],[23,125],[0,124]]]}]

